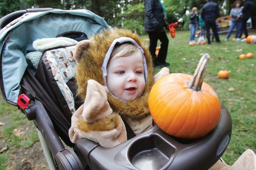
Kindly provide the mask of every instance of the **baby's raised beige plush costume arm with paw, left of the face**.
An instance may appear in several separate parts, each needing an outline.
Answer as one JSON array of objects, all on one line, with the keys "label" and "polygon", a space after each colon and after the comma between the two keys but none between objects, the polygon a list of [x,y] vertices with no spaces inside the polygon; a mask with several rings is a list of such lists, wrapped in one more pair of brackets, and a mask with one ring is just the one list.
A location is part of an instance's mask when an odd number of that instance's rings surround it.
[{"label": "baby's raised beige plush costume arm with paw, left of the face", "polygon": [[73,143],[85,137],[104,148],[127,140],[123,120],[113,113],[107,101],[107,88],[95,80],[87,81],[85,103],[72,116],[69,136]]}]

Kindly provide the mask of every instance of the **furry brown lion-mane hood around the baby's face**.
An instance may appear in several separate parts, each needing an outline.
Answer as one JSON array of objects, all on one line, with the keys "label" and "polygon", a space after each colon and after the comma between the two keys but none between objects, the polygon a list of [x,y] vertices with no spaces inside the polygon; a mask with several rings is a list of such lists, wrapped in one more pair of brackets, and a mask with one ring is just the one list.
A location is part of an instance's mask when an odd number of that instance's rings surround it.
[{"label": "furry brown lion-mane hood around the baby's face", "polygon": [[[87,90],[87,80],[96,80],[101,85],[104,83],[104,73],[101,69],[106,53],[111,48],[112,43],[116,39],[129,39],[135,41],[139,49],[144,52],[145,65],[147,66],[147,76],[145,89],[139,97],[130,102],[123,102],[108,93],[108,102],[114,112],[123,118],[131,118],[133,120],[148,116],[149,92],[154,84],[152,59],[148,47],[143,44],[136,33],[124,28],[106,29],[101,33],[95,34],[89,40],[80,41],[75,49],[74,57],[78,63],[75,76],[78,86],[77,95],[85,100]],[[126,40],[127,41],[127,40]],[[134,43],[134,42],[131,42]]]}]

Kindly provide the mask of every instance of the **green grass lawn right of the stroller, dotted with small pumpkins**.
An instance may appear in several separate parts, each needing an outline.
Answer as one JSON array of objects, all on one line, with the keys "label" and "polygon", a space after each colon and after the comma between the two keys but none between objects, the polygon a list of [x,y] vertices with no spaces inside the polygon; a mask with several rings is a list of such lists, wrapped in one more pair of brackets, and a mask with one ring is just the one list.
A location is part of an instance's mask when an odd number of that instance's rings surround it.
[{"label": "green grass lawn right of the stroller, dotted with small pumpkins", "polygon": [[[255,35],[249,30],[249,35]],[[233,42],[231,35],[225,42],[226,33],[220,34],[221,44],[188,46],[189,31],[178,31],[176,37],[169,38],[167,62],[171,73],[193,75],[198,61],[203,54],[210,54],[204,81],[217,92],[220,102],[226,106],[232,117],[232,137],[222,158],[232,165],[246,149],[256,151],[256,44]],[[143,35],[142,38],[147,38]],[[196,38],[197,40],[197,38]],[[159,44],[160,45],[160,42]],[[238,59],[240,54],[252,52],[253,58]],[[218,71],[225,68],[229,71],[228,79],[220,79]],[[156,72],[159,69],[155,70]],[[229,91],[233,87],[234,91]]]}]

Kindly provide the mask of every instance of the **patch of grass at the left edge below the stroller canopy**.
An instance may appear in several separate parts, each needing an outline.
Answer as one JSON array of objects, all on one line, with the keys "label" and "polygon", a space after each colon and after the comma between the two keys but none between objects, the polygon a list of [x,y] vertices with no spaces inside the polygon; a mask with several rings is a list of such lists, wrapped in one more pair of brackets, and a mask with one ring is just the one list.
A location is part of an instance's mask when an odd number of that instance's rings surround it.
[{"label": "patch of grass at the left edge below the stroller canopy", "polygon": [[[12,154],[28,149],[34,142],[39,141],[39,138],[34,123],[27,120],[17,107],[4,102],[2,96],[0,97],[0,117],[0,122],[5,123],[0,126],[1,146],[8,146],[8,149],[0,154],[0,170],[5,170],[13,161],[9,159]],[[19,130],[22,134],[14,135]]]}]

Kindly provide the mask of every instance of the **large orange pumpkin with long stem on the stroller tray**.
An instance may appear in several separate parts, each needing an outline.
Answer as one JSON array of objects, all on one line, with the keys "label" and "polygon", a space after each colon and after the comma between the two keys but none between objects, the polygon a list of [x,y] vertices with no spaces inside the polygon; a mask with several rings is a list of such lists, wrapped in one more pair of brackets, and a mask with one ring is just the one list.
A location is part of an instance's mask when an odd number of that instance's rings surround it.
[{"label": "large orange pumpkin with long stem on the stroller tray", "polygon": [[152,87],[149,109],[155,123],[174,137],[195,139],[208,134],[220,119],[219,98],[203,74],[210,56],[203,55],[194,76],[172,73]]}]

